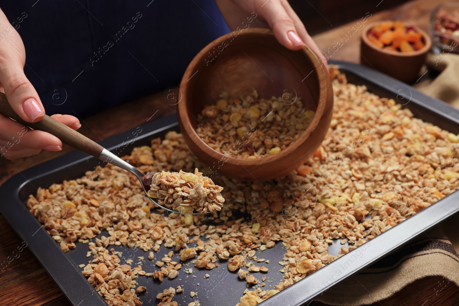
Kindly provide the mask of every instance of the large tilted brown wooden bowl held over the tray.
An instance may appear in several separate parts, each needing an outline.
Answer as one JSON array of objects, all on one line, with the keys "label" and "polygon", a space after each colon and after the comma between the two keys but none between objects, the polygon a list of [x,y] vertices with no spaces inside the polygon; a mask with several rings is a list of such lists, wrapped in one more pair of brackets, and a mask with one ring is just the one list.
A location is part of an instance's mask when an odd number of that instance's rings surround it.
[{"label": "large tilted brown wooden bowl held over the tray", "polygon": [[[238,97],[253,88],[262,98],[279,97],[284,90],[296,92],[305,109],[316,110],[313,122],[294,143],[272,156],[246,159],[214,150],[196,134],[197,114],[223,91]],[[319,148],[333,111],[330,75],[319,57],[306,46],[297,51],[285,48],[268,29],[235,31],[215,39],[190,62],[180,91],[179,125],[191,151],[213,172],[240,180],[278,178],[296,169]]]}]

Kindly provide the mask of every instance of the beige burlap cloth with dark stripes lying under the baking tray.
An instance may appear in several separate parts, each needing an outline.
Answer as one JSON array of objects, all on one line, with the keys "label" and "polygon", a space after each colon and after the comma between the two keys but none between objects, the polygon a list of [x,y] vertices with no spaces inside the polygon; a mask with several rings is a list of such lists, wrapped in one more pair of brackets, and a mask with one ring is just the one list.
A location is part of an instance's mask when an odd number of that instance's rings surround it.
[{"label": "beige burlap cloth with dark stripes lying under the baking tray", "polygon": [[[413,86],[459,109],[459,55],[429,55],[427,69],[441,72]],[[442,276],[459,286],[459,216],[403,246],[315,300],[329,305],[360,306],[384,300],[417,279]]]}]

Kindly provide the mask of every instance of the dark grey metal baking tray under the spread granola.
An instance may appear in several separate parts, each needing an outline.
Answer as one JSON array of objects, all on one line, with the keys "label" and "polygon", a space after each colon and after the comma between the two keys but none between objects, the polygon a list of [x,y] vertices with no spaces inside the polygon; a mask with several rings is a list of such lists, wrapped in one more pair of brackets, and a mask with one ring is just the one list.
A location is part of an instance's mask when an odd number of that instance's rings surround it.
[{"label": "dark grey metal baking tray under the spread granola", "polygon": [[[398,104],[408,107],[415,117],[453,133],[459,133],[459,111],[446,103],[424,95],[409,85],[366,67],[341,61],[330,61],[330,64],[338,65],[340,70],[346,73],[350,83],[364,84],[370,92],[382,97],[393,98]],[[169,130],[179,130],[175,115],[163,117],[102,140],[100,144],[118,156],[123,156],[135,146],[148,145],[151,139],[163,137]],[[6,217],[7,222],[17,234],[26,241],[28,248],[74,306],[106,305],[105,301],[83,277],[82,269],[78,267],[79,264],[87,263],[92,258],[86,257],[88,245],[78,243],[76,249],[67,253],[62,252],[59,245],[28,211],[25,203],[28,195],[35,194],[38,187],[46,188],[53,183],[60,183],[64,179],[81,177],[85,171],[93,170],[95,166],[100,164],[101,161],[94,157],[80,151],[74,151],[23,171],[0,187],[0,198],[2,199],[0,212]],[[351,261],[349,259],[352,255],[341,256],[296,284],[263,301],[262,305],[307,305],[314,296],[320,295],[332,285],[353,273],[357,273],[440,223],[448,216],[458,212],[459,205],[456,204],[458,200],[459,194],[457,192],[448,195],[413,217],[378,235],[369,243],[360,246],[358,249],[362,251],[363,256],[358,258],[354,256]],[[101,235],[107,235],[107,233],[102,232],[98,237]],[[205,238],[203,239],[205,240]],[[133,259],[133,265],[141,262],[146,272],[153,271],[154,261],[137,259],[138,256],[146,257],[146,252],[139,249],[131,250],[127,246],[113,246],[113,248],[123,252],[120,256],[122,263],[127,259]],[[329,252],[336,255],[340,248],[339,241],[336,241],[330,245]],[[155,253],[155,258],[168,253],[169,250],[162,246]],[[284,254],[285,248],[280,243],[263,252],[257,251],[258,258],[270,259],[270,264],[267,265],[269,272],[263,275],[267,277],[265,282],[267,285],[263,289],[274,289],[274,285],[283,280],[283,273],[279,272],[280,266],[277,261],[282,259]],[[351,251],[350,254],[355,253]],[[174,259],[177,257],[174,255]],[[341,265],[345,262],[350,268],[342,271]],[[146,292],[139,294],[140,300],[144,302],[144,305],[156,305],[158,292],[169,287],[177,288],[178,285],[184,285],[184,292],[176,295],[173,299],[179,305],[186,306],[194,300],[199,300],[203,306],[233,306],[239,302],[242,292],[246,289],[246,283],[240,280],[235,273],[228,271],[226,261],[219,260],[218,263],[220,266],[213,270],[197,270],[193,264],[189,263],[182,267],[177,278],[172,280],[165,278],[162,283],[153,281],[152,278],[139,277],[137,278],[139,285],[147,287]],[[186,274],[184,271],[185,268],[189,267],[194,270],[192,274]],[[338,279],[336,279],[337,271],[341,272],[341,277]],[[210,274],[210,278],[204,278],[206,273]],[[197,291],[197,296],[191,298],[190,291]]]}]

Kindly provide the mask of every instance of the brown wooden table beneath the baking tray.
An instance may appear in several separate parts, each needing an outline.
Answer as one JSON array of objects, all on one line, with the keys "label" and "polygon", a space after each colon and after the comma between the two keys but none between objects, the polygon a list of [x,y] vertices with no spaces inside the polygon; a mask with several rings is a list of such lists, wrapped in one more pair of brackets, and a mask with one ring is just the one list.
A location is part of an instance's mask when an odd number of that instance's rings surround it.
[{"label": "brown wooden table beneath the baking tray", "polygon": [[[375,1],[375,6],[379,1]],[[428,30],[431,9],[445,0],[413,0],[391,10],[372,14],[369,22],[384,19],[398,19],[410,22],[424,30]],[[371,11],[369,12],[371,13]],[[328,48],[342,40],[341,35],[347,33],[356,23],[350,22],[330,31],[315,35],[313,38],[319,48],[326,52]],[[361,30],[359,30],[361,31]],[[350,37],[334,54],[331,60],[351,61],[359,63],[359,32]],[[170,96],[169,96],[170,98]],[[168,103],[169,102],[169,103]],[[167,94],[158,93],[142,99],[117,106],[82,121],[79,132],[90,139],[99,141],[107,137],[119,134],[139,123],[154,120],[175,111],[167,100]],[[157,111],[157,112],[156,112]],[[155,113],[156,112],[156,113]],[[152,114],[154,116],[150,117]],[[29,167],[38,165],[57,156],[68,153],[72,149],[64,145],[60,152],[42,151],[36,156],[21,158],[14,161],[0,159],[0,184],[4,183],[14,174]],[[21,245],[17,234],[0,216],[0,261],[11,256],[13,250]],[[441,290],[439,288],[442,288]],[[443,280],[441,277],[423,278],[410,284],[392,297],[373,304],[374,306],[453,306],[459,301],[459,288],[453,283]],[[20,253],[20,257],[11,261],[7,267],[0,271],[0,305],[6,306],[69,306],[69,302],[63,297],[61,291],[53,280],[45,273],[45,270],[35,260],[34,256],[26,248]],[[313,302],[310,306],[324,305]]]}]

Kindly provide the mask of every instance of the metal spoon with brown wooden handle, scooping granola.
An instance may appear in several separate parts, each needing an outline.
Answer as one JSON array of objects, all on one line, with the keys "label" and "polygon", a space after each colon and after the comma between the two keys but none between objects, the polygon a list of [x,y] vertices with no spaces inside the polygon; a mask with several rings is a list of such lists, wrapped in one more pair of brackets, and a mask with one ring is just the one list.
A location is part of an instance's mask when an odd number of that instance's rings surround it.
[{"label": "metal spoon with brown wooden handle, scooping granola", "polygon": [[[135,175],[136,178],[139,179],[140,184],[142,185],[142,188],[145,192],[145,195],[148,199],[150,199],[153,203],[155,203],[156,206],[161,207],[162,209],[169,211],[169,212],[175,212],[178,214],[182,214],[179,211],[174,211],[172,209],[169,209],[167,207],[162,206],[159,204],[156,200],[153,200],[147,195],[147,191],[150,190],[150,186],[144,184],[144,177],[148,175],[143,174],[140,172],[136,167],[130,165],[126,161],[123,161],[121,158],[110,152],[109,150],[105,149],[95,141],[92,141],[91,139],[87,138],[86,136],[78,133],[75,131],[73,128],[67,127],[67,125],[57,121],[56,119],[53,119],[49,117],[48,115],[45,115],[43,119],[41,119],[38,122],[26,122],[22,120],[19,115],[11,108],[10,103],[8,103],[8,100],[6,99],[6,95],[0,92],[0,113],[5,115],[6,117],[9,117],[13,120],[16,120],[17,122],[21,122],[22,124],[44,132],[48,132],[57,138],[61,139],[61,141],[67,145],[72,146],[75,149],[78,149],[80,151],[83,151],[84,153],[87,153],[91,156],[94,156],[95,158],[98,158],[102,161],[106,161],[111,163],[112,165],[118,166],[126,171],[131,172],[132,174]],[[146,180],[148,178],[146,177]],[[150,179],[151,180],[151,179]],[[206,214],[205,213],[187,213],[189,215],[201,215],[201,214]]]}]

